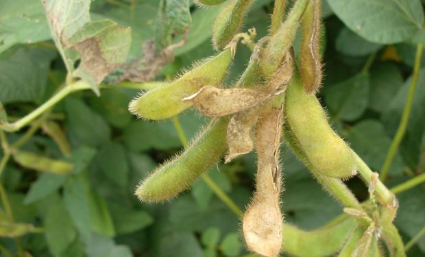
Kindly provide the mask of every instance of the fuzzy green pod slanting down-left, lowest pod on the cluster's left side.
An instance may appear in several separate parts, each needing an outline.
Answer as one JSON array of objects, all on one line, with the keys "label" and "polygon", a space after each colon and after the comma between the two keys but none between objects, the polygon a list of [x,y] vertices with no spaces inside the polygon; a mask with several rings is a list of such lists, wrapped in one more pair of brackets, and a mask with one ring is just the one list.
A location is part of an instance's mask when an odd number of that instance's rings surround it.
[{"label": "fuzzy green pod slanting down-left, lowest pod on the cluster's left side", "polygon": [[227,118],[213,121],[182,154],[162,164],[141,182],[136,196],[141,201],[164,201],[189,188],[223,156],[227,125]]}]

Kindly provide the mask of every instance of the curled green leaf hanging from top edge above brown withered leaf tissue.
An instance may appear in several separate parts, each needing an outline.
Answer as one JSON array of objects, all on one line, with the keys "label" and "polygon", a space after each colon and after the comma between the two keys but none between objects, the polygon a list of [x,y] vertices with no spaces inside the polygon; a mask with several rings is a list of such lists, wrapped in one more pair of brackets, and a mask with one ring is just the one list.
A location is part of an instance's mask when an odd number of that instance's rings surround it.
[{"label": "curled green leaf hanging from top edge above brown withered leaf tissue", "polygon": [[191,25],[189,0],[161,0],[155,23],[155,39],[159,49],[171,45],[174,34],[183,34]]}]

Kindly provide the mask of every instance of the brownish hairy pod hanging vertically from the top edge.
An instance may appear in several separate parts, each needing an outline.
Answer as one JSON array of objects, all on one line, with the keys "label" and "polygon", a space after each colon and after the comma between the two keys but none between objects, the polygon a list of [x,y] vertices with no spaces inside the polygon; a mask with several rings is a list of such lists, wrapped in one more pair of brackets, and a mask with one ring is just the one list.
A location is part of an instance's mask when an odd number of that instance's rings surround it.
[{"label": "brownish hairy pod hanging vertically from the top edge", "polygon": [[320,0],[310,1],[301,23],[300,74],[304,89],[309,94],[314,94],[319,90],[322,77],[319,52],[320,8]]}]

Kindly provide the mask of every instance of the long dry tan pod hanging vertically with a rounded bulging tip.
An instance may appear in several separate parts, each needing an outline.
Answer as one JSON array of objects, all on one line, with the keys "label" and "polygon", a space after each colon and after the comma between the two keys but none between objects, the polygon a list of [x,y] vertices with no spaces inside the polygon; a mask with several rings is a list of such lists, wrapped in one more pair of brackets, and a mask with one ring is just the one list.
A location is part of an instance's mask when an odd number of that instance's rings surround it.
[{"label": "long dry tan pod hanging vertically with a rounded bulging tip", "polygon": [[278,256],[282,245],[279,147],[282,110],[265,112],[256,127],[256,192],[243,216],[247,247],[263,256]]}]

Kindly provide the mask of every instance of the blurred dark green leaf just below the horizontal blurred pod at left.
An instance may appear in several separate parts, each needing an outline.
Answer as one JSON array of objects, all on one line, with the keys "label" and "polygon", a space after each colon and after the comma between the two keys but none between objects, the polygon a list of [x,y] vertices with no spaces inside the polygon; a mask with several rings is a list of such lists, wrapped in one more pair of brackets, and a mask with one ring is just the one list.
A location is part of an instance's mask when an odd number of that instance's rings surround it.
[{"label": "blurred dark green leaf just below the horizontal blurred pod at left", "polygon": [[64,184],[66,178],[66,175],[42,173],[38,180],[31,184],[24,203],[32,204],[56,192]]}]

